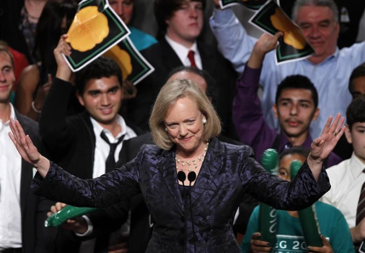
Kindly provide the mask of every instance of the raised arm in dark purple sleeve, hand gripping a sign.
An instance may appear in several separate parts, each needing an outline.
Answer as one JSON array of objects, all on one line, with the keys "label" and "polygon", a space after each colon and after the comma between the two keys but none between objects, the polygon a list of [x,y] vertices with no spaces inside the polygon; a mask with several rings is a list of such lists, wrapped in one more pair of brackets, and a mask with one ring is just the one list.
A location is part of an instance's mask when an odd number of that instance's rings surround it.
[{"label": "raised arm in dark purple sleeve, hand gripping a sign", "polygon": [[257,95],[262,62],[267,52],[276,48],[281,32],[275,36],[263,34],[256,42],[252,54],[238,79],[233,102],[233,121],[240,140],[250,145],[259,156],[270,147],[277,135],[263,118],[261,102]]}]

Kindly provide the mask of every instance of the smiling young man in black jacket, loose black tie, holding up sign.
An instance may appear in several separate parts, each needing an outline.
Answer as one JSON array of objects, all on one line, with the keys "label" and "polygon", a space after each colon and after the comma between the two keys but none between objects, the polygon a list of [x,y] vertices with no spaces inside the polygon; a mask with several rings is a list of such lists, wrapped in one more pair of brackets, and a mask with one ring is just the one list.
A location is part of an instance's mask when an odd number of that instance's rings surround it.
[{"label": "smiling young man in black jacket, loose black tie, holding up sign", "polygon": [[[40,134],[52,160],[80,178],[91,179],[113,170],[122,158],[123,143],[141,131],[118,114],[123,99],[122,72],[117,63],[106,58],[98,58],[76,73],[76,96],[85,110],[66,117],[73,94],[68,82],[71,70],[61,55],[70,54],[65,38],[61,36],[54,51],[57,74],[39,119]],[[108,238],[109,234],[97,238],[95,250],[107,249]],[[79,252],[80,242],[73,240],[71,232],[60,228],[56,240],[56,252]]]}]

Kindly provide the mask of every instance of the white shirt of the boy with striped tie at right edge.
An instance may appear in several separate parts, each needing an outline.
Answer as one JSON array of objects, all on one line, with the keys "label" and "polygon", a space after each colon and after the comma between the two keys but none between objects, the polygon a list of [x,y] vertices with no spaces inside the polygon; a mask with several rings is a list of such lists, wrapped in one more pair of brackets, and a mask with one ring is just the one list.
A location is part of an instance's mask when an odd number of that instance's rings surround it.
[{"label": "white shirt of the boy with striped tie at right edge", "polygon": [[364,169],[365,164],[353,153],[350,159],[326,170],[331,189],[320,200],[337,207],[350,228],[356,225],[356,209],[365,182]]}]

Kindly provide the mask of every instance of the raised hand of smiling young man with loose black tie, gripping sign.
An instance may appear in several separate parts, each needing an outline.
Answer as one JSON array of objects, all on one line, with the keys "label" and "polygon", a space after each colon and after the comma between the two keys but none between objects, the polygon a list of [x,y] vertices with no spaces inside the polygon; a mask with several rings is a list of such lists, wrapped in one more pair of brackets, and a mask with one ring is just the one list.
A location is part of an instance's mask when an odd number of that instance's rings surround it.
[{"label": "raised hand of smiling young man with loose black tie, gripping sign", "polygon": [[57,63],[56,77],[68,82],[71,75],[71,69],[69,68],[69,66],[67,65],[66,61],[62,56],[62,54],[65,55],[66,57],[71,55],[71,46],[66,42],[66,39],[67,39],[67,34],[61,35],[59,44],[57,45],[53,53],[55,55]]}]

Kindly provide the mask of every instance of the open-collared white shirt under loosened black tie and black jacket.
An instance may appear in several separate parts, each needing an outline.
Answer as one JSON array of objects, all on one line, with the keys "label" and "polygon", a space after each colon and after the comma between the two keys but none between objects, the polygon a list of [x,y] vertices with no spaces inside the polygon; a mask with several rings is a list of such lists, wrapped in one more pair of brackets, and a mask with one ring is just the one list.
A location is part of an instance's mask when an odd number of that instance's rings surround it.
[{"label": "open-collared white shirt under loosened black tie and black jacket", "polygon": [[[93,167],[93,178],[100,177],[101,175],[105,174],[105,162],[109,156],[110,146],[109,144],[100,137],[100,134],[102,131],[105,132],[105,135],[108,137],[110,143],[116,143],[118,141],[118,138],[125,134],[123,141],[133,138],[137,136],[137,134],[125,124],[124,119],[122,116],[117,115],[117,123],[121,126],[122,131],[114,137],[113,134],[107,130],[104,129],[100,124],[91,118],[91,123],[93,125],[94,133],[95,133],[95,152],[94,152],[94,167]],[[116,162],[119,160],[119,153],[122,150],[123,141],[118,144],[116,151],[114,153],[114,159]]]}]

